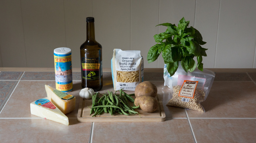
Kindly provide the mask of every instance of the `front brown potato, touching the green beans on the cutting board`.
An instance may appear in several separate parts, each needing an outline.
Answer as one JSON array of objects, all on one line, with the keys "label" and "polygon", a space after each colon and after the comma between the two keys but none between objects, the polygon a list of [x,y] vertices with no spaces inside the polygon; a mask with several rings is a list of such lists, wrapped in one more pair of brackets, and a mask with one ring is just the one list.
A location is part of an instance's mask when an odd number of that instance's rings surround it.
[{"label": "front brown potato, touching the green beans on the cutting board", "polygon": [[135,106],[139,105],[139,108],[147,113],[152,113],[158,108],[158,101],[152,96],[141,95],[135,98]]}]

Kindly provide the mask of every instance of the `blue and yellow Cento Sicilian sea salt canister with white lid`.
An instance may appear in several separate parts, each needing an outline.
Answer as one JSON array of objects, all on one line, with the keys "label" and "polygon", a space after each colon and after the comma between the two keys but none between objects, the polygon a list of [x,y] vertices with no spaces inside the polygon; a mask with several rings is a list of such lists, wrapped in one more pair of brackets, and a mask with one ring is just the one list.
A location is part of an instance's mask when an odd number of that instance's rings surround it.
[{"label": "blue and yellow Cento Sicilian sea salt canister with white lid", "polygon": [[73,90],[71,49],[66,47],[54,49],[54,67],[56,89],[63,92]]}]

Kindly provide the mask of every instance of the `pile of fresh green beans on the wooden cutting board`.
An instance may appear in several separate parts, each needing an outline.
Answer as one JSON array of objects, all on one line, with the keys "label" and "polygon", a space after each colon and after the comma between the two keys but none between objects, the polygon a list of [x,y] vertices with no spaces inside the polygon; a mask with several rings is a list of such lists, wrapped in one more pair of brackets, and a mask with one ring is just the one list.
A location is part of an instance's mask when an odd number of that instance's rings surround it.
[{"label": "pile of fresh green beans on the wooden cutting board", "polygon": [[129,102],[134,103],[134,99],[131,97],[134,94],[127,94],[124,91],[119,90],[120,94],[109,92],[108,94],[102,94],[103,96],[99,98],[99,93],[95,93],[92,97],[92,107],[90,110],[90,116],[100,115],[103,112],[110,113],[111,115],[115,113],[124,114],[124,115],[136,115],[139,114],[134,109],[139,108],[139,106],[130,106]]}]

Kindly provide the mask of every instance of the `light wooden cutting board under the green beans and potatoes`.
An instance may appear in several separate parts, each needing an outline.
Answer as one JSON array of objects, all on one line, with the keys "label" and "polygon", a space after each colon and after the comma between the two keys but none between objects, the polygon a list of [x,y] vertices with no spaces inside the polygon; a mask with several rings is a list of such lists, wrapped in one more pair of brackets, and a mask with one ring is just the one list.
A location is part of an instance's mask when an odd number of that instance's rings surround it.
[{"label": "light wooden cutting board under the green beans and potatoes", "polygon": [[[132,96],[135,98],[135,96]],[[156,99],[159,101],[158,109],[153,113],[146,113],[141,109],[135,109],[135,111],[139,112],[140,117],[138,114],[136,115],[121,115],[118,113],[111,114],[109,113],[102,113],[101,115],[92,117],[90,115],[90,108],[92,107],[92,99],[83,99],[80,98],[79,109],[77,114],[77,120],[79,122],[161,122],[165,121],[165,113],[163,110],[162,101],[159,100],[158,95]]]}]

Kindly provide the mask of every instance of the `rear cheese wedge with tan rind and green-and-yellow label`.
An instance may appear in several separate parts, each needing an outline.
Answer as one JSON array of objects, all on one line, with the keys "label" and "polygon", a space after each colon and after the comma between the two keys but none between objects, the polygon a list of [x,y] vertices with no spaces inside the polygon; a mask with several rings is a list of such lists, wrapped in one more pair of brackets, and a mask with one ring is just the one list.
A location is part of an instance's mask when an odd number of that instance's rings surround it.
[{"label": "rear cheese wedge with tan rind and green-and-yellow label", "polygon": [[60,111],[67,114],[75,109],[75,96],[59,91],[53,87],[45,85],[48,99],[57,106]]}]

